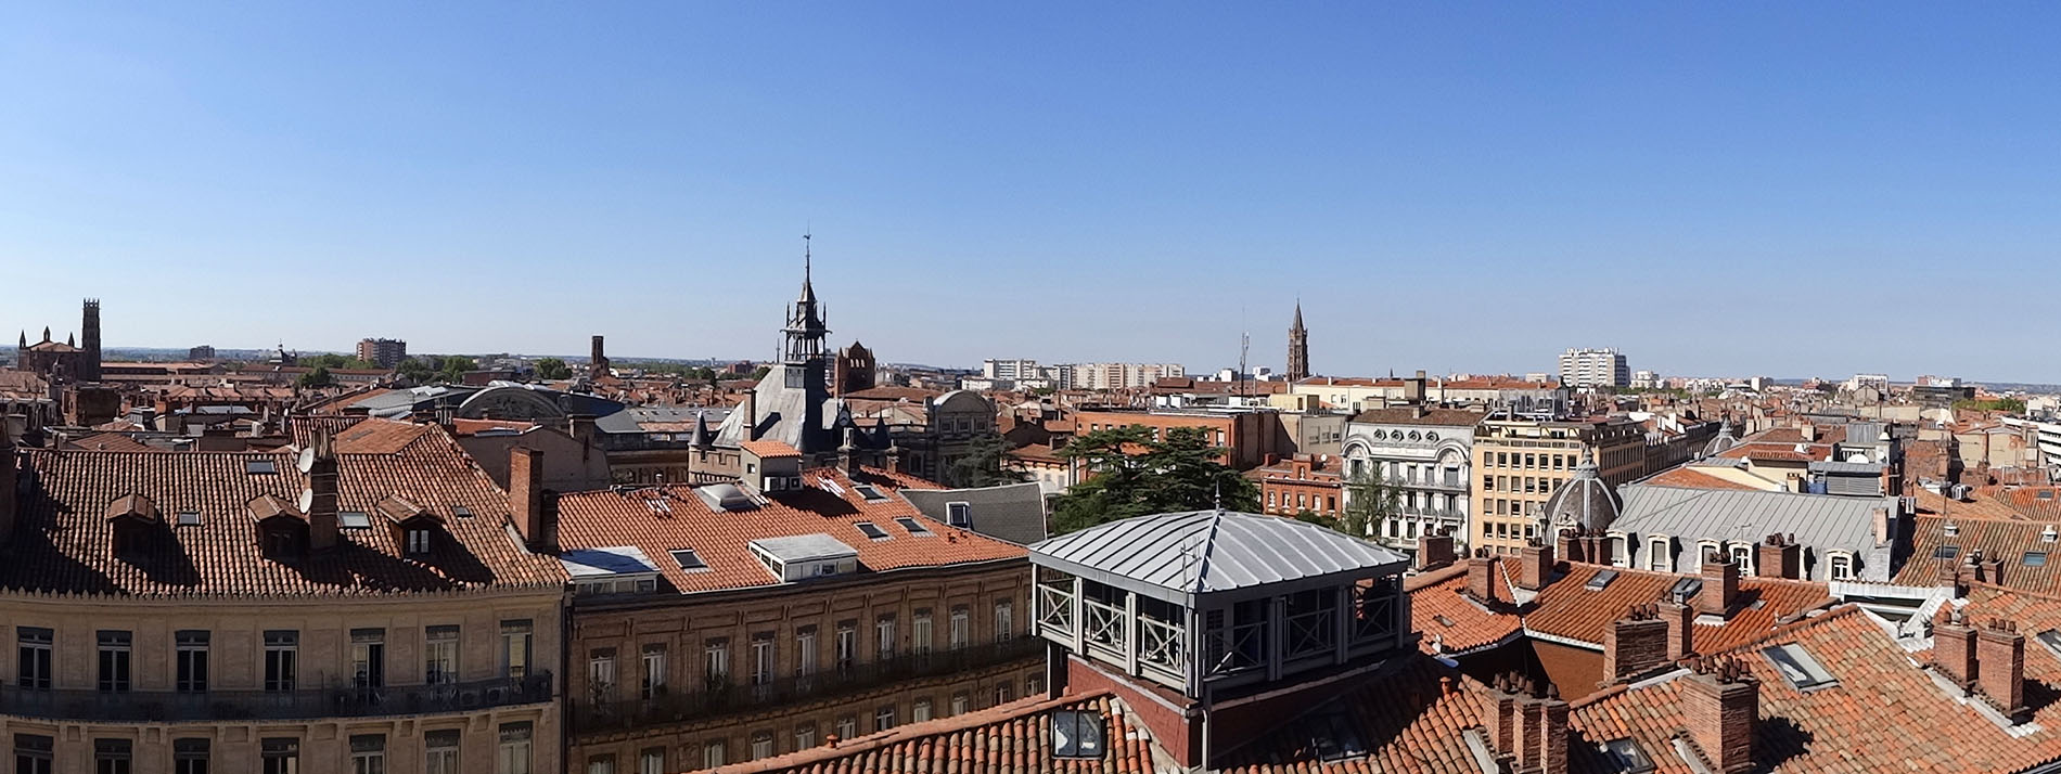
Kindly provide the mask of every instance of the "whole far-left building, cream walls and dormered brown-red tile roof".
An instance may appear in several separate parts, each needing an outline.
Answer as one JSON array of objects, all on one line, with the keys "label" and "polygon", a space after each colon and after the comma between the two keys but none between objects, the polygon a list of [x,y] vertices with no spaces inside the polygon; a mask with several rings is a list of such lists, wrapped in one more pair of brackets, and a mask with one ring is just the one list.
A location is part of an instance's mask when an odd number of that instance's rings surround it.
[{"label": "whole far-left building, cream walls and dormered brown-red tile roof", "polygon": [[548,494],[505,494],[441,428],[301,453],[0,438],[0,494],[16,772],[561,770]]}]

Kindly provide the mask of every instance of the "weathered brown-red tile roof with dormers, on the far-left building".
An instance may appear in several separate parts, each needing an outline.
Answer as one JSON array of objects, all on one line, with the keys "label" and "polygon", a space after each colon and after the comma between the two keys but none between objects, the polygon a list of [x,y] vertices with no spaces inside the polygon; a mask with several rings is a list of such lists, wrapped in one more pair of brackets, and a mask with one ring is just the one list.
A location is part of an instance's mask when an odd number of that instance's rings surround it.
[{"label": "weathered brown-red tile roof with dormers, on the far-left building", "polygon": [[[433,426],[404,449],[338,453],[342,511],[373,513],[387,496],[423,502],[439,517],[470,508],[470,519],[445,519],[451,539],[429,558],[406,556],[392,527],[342,529],[334,556],[293,564],[260,556],[251,502],[295,502],[307,486],[295,461],[291,453],[25,451],[23,467],[37,486],[0,548],[0,589],[363,595],[565,583],[559,562],[509,537],[507,494]],[[251,471],[251,463],[272,471]],[[105,508],[128,494],[148,498],[167,519],[196,511],[200,525],[167,527],[146,552],[115,558]]]}]

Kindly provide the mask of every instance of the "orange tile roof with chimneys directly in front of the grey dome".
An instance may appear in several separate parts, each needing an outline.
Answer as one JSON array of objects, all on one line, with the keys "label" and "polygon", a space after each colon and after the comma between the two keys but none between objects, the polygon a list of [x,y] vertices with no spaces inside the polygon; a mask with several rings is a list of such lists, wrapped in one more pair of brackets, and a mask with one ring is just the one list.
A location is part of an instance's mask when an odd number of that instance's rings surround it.
[{"label": "orange tile roof with chimneys directly in front of the grey dome", "polygon": [[[1601,591],[1589,591],[1589,578],[1601,570],[1616,570],[1618,576]],[[1610,630],[1612,622],[1624,618],[1636,605],[1661,601],[1682,578],[1694,578],[1694,574],[1568,562],[1566,574],[1531,599],[1525,613],[1525,628],[1568,640],[1603,644],[1603,632]],[[1779,622],[1795,618],[1805,609],[1830,605],[1832,597],[1822,583],[1739,578],[1739,597],[1731,618],[1723,626],[1696,624],[1692,646],[1696,653],[1729,650],[1739,642],[1766,636]]]}]

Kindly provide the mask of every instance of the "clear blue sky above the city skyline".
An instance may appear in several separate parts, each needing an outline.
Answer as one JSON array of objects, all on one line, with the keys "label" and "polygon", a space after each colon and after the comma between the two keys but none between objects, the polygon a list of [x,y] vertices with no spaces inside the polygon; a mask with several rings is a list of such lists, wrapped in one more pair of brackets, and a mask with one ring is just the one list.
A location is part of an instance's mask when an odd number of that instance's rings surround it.
[{"label": "clear blue sky above the city skyline", "polygon": [[2053,4],[16,4],[0,327],[2061,383]]}]

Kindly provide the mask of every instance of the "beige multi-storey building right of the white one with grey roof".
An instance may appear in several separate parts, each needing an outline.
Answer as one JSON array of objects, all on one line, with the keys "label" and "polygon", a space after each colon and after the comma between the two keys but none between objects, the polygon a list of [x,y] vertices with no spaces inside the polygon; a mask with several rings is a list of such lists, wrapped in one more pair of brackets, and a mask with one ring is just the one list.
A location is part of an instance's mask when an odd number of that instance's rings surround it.
[{"label": "beige multi-storey building right of the white one with grey roof", "polygon": [[1474,428],[1474,546],[1517,554],[1540,537],[1544,504],[1593,459],[1603,484],[1645,476],[1645,426],[1622,416],[1585,420],[1484,420]]}]

